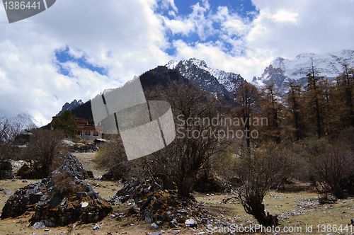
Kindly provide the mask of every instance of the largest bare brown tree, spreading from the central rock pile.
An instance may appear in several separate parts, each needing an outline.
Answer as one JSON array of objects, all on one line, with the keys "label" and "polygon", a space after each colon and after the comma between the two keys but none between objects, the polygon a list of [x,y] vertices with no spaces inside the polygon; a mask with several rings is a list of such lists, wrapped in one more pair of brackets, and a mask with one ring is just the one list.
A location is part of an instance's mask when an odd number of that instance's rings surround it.
[{"label": "largest bare brown tree, spreading from the central rock pile", "polygon": [[171,104],[176,139],[147,158],[145,167],[151,174],[169,176],[177,184],[178,194],[189,197],[195,176],[205,161],[224,151],[228,143],[227,133],[219,125],[217,100],[195,86],[176,82],[168,88],[155,87],[147,98]]}]

